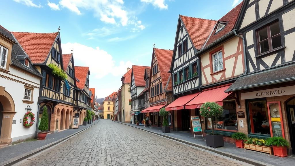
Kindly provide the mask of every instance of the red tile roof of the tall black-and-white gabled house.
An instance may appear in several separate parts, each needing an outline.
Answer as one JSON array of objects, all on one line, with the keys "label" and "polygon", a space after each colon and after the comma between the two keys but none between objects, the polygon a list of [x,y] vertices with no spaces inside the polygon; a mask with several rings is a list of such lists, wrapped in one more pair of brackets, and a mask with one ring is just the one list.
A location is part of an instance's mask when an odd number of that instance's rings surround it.
[{"label": "red tile roof of the tall black-and-white gabled house", "polygon": [[183,21],[194,47],[201,50],[217,21],[182,15],[179,15],[179,17]]}]

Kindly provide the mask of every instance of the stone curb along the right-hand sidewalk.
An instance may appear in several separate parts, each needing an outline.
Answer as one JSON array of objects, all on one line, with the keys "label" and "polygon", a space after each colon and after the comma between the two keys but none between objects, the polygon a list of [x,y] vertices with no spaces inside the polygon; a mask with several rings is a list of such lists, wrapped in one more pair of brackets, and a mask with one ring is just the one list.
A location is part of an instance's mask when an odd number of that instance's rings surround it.
[{"label": "stone curb along the right-hand sidewalk", "polygon": [[[121,122],[117,122],[117,123],[121,123]],[[127,126],[130,126],[130,127],[138,128],[138,127],[131,126],[131,125],[128,125],[128,124],[125,124],[125,123],[122,123],[122,124],[127,125]],[[218,149],[215,149],[215,148],[212,148],[212,147],[206,147],[206,146],[203,146],[203,145],[198,145],[198,144],[195,144],[195,143],[192,143],[192,142],[184,141],[182,139],[177,139],[177,138],[174,138],[174,137],[171,137],[171,136],[167,136],[167,135],[164,135],[164,134],[159,134],[159,133],[155,133],[153,131],[144,130],[142,128],[138,128],[138,129],[143,130],[143,131],[147,131],[147,132],[150,132],[150,133],[159,135],[159,136],[163,136],[165,138],[169,138],[169,139],[172,139],[172,140],[175,140],[175,141],[184,143],[184,144],[189,144],[191,146],[198,147],[200,149],[208,150],[210,152],[214,152],[216,154],[220,154],[220,155],[223,155],[225,157],[229,157],[229,158],[232,158],[232,159],[235,159],[235,160],[239,160],[239,161],[242,161],[242,162],[245,162],[245,163],[248,163],[248,164],[252,164],[252,165],[256,165],[256,166],[275,166],[275,165],[267,164],[267,163],[264,163],[264,162],[260,162],[258,160],[248,159],[248,158],[244,158],[242,156],[237,156],[235,154],[231,154],[231,153],[227,153],[227,152],[222,152],[222,151],[220,151]]]}]

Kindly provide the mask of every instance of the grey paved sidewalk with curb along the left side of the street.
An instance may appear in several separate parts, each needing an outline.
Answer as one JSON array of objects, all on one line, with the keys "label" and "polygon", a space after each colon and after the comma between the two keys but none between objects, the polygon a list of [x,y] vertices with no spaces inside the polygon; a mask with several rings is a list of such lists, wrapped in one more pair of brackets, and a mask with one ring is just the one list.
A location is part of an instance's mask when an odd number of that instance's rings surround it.
[{"label": "grey paved sidewalk with curb along the left side of the street", "polygon": [[36,153],[59,144],[60,142],[69,139],[72,136],[75,136],[76,134],[86,130],[98,122],[99,120],[94,121],[93,123],[86,126],[80,125],[79,128],[66,129],[57,133],[50,133],[47,134],[46,139],[44,140],[32,139],[30,141],[0,148],[0,166],[13,165]]}]

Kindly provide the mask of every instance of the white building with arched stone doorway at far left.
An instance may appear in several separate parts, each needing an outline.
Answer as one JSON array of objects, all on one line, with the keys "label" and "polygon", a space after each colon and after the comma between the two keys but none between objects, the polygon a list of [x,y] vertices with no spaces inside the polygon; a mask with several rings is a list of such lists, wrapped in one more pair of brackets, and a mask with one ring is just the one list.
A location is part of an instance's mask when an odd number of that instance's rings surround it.
[{"label": "white building with arched stone doorway at far left", "polygon": [[[0,144],[1,147],[35,137],[38,122],[25,127],[30,111],[38,119],[42,75],[11,32],[0,26]],[[30,124],[30,119],[28,123]]]}]

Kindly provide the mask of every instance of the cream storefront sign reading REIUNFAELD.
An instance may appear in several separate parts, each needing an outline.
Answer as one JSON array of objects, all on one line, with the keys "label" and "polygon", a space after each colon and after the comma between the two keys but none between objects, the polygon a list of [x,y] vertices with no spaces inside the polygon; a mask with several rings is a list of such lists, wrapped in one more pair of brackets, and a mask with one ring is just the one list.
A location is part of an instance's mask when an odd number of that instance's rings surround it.
[{"label": "cream storefront sign reading REIUNFAELD", "polygon": [[254,92],[241,93],[241,99],[256,99],[262,97],[273,97],[273,96],[284,96],[284,95],[294,95],[295,85],[289,87],[280,87],[273,89],[265,89]]}]

